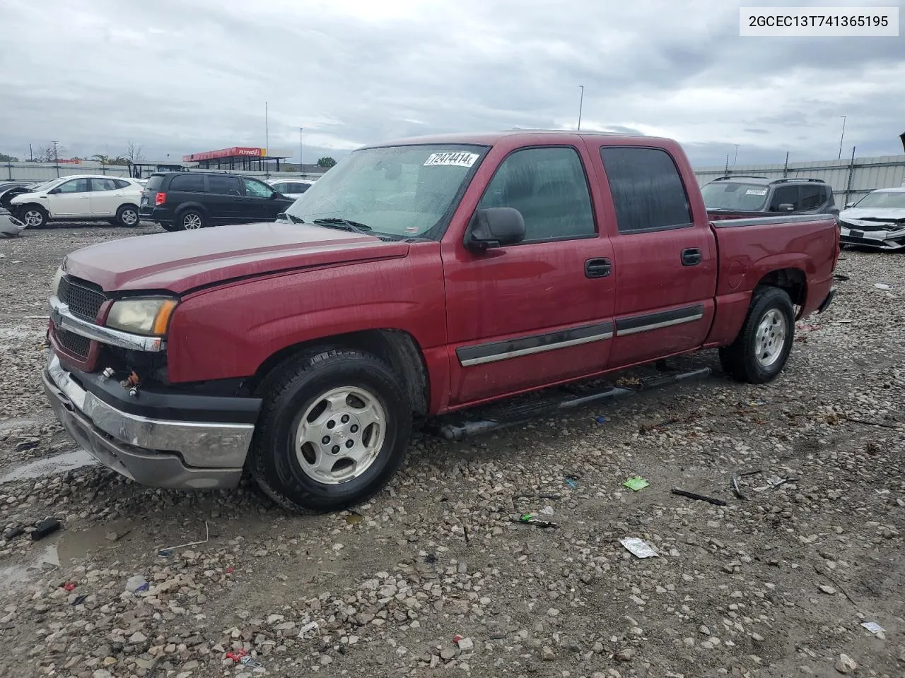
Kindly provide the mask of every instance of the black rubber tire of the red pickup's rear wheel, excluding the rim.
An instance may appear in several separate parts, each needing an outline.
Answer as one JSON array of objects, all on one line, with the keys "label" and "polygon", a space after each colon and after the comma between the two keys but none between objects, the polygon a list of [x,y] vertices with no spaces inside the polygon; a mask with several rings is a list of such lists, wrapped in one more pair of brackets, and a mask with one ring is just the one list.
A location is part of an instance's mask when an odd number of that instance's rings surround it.
[{"label": "black rubber tire of the red pickup's rear wheel, excluding the rim", "polygon": [[[776,315],[778,314],[778,316]],[[779,336],[779,317],[785,321],[780,345],[774,344]],[[776,325],[765,323],[768,317],[776,320]],[[758,330],[765,323],[764,352],[758,352]],[[772,329],[771,329],[772,328]],[[747,383],[767,383],[773,381],[783,371],[795,343],[795,308],[786,292],[778,287],[758,287],[748,306],[748,317],[742,325],[736,340],[719,349],[719,363],[723,371],[738,381]],[[771,350],[778,349],[778,353]]]}]

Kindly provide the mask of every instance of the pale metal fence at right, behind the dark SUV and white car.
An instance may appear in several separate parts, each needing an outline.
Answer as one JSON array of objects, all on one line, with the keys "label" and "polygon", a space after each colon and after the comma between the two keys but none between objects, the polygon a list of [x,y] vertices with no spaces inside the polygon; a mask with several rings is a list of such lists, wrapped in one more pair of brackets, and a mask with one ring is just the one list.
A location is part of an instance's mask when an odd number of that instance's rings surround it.
[{"label": "pale metal fence at right, behind the dark SUV and white car", "polygon": [[792,165],[738,165],[729,167],[695,167],[698,184],[704,185],[719,176],[748,174],[770,179],[802,177],[822,179],[833,188],[836,207],[862,198],[878,188],[905,186],[905,155],[854,157],[843,160],[815,160]]}]

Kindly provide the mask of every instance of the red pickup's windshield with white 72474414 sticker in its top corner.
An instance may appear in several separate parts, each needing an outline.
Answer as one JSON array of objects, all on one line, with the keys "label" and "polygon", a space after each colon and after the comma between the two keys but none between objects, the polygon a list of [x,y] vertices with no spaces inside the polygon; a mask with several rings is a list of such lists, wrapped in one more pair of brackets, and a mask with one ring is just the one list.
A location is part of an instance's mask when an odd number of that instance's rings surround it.
[{"label": "red pickup's windshield with white 72474414 sticker in its top corner", "polygon": [[443,220],[486,150],[443,144],[356,151],[312,184],[286,213],[309,223],[356,221],[375,235],[424,236]]}]

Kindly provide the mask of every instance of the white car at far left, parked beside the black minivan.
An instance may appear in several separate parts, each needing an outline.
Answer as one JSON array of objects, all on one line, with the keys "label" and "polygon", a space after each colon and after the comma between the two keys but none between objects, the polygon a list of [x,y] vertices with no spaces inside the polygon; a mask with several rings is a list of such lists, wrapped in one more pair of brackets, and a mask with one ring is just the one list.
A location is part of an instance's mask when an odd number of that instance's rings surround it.
[{"label": "white car at far left, parked beside the black minivan", "polygon": [[141,184],[121,176],[75,174],[38,184],[10,201],[10,211],[28,227],[48,221],[111,221],[138,226]]}]

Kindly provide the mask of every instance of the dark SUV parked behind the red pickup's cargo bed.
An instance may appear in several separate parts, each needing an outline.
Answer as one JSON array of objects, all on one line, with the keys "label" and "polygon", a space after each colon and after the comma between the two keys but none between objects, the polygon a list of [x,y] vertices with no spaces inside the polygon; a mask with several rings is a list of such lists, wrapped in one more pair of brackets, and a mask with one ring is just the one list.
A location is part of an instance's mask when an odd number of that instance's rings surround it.
[{"label": "dark SUV parked behind the red pickup's cargo bed", "polygon": [[768,214],[833,214],[833,189],[820,179],[768,179],[766,176],[721,176],[700,187],[712,220],[762,217]]}]

